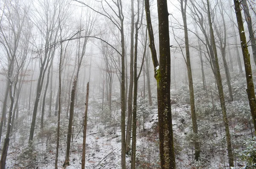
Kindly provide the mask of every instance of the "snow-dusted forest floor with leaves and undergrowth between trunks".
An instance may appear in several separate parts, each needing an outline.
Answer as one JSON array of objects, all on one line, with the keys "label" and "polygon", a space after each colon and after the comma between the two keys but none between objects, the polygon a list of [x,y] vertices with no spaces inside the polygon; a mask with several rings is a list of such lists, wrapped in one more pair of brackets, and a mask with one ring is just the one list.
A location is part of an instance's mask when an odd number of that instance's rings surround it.
[{"label": "snow-dusted forest floor with leaves and undergrowth between trunks", "polygon": [[[182,90],[180,90],[182,91]],[[196,91],[196,87],[195,87]],[[239,91],[239,89],[237,90]],[[186,93],[186,91],[183,91]],[[244,92],[242,93],[244,95]],[[174,94],[173,94],[174,95]],[[176,93],[176,95],[178,95]],[[181,95],[181,94],[179,94]],[[197,95],[197,92],[195,92]],[[214,93],[212,94],[214,95]],[[240,94],[239,94],[240,95]],[[199,96],[199,95],[198,95]],[[209,93],[208,93],[209,97]],[[212,100],[211,97],[207,99]],[[100,98],[100,97],[99,97]],[[121,129],[120,110],[116,106],[114,113],[107,115],[109,110],[103,109],[101,99],[89,99],[88,124],[86,138],[86,168],[87,169],[120,169],[121,167]],[[198,97],[199,98],[199,97]],[[156,98],[154,98],[156,99]],[[233,143],[234,169],[241,169],[244,162],[241,152],[245,149],[244,140],[251,139],[252,125],[247,102],[237,98],[227,102],[230,133]],[[115,102],[113,102],[115,103]],[[116,105],[118,101],[116,101]],[[79,104],[79,103],[78,103]],[[81,104],[82,105],[82,104]],[[93,105],[93,106],[92,106]],[[157,106],[146,106],[138,101],[137,123],[137,156],[138,169],[160,169],[158,143]],[[175,157],[177,169],[228,169],[227,146],[225,130],[222,122],[220,105],[211,101],[196,100],[198,115],[198,131],[201,143],[201,161],[195,163],[195,149],[192,143],[192,125],[189,104],[186,100],[177,100],[172,105],[172,123],[174,132]],[[82,107],[82,106],[81,106]],[[66,111],[61,114],[61,137],[58,166],[65,160],[67,124]],[[73,142],[71,144],[70,166],[67,169],[81,168],[82,154],[82,118],[83,109],[76,109],[73,124]],[[145,123],[143,127],[143,113]],[[107,117],[108,116],[108,117]],[[44,129],[40,130],[40,115],[38,115],[35,137],[32,146],[28,146],[31,114],[20,112],[17,120],[19,127],[14,129],[10,137],[6,169],[53,169],[55,165],[55,145],[57,117],[45,117]],[[144,128],[144,129],[143,129]],[[6,131],[4,131],[6,132]],[[4,136],[5,133],[3,133]],[[2,137],[3,145],[4,137]],[[130,168],[131,156],[126,156],[127,169]]]}]

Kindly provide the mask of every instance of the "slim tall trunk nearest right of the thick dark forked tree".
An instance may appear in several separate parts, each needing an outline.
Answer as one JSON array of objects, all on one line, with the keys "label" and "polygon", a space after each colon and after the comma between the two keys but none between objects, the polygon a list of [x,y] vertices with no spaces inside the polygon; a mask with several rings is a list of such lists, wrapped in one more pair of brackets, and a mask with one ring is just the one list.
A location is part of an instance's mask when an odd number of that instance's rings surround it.
[{"label": "slim tall trunk nearest right of the thick dark forked tree", "polygon": [[195,144],[195,160],[198,161],[200,157],[200,145],[198,140],[198,125],[196,121],[197,117],[195,113],[195,97],[194,97],[192,70],[191,70],[191,64],[190,64],[189,36],[188,36],[188,28],[187,28],[187,22],[186,22],[186,6],[187,6],[187,0],[184,0],[184,6],[183,6],[183,0],[181,0],[180,8],[181,8],[181,14],[183,18],[184,35],[185,35],[185,49],[186,49],[185,61],[186,61],[186,67],[188,72],[188,79],[189,79],[190,110],[191,110],[191,117],[192,117],[192,129],[195,135],[195,138],[193,139]]}]

